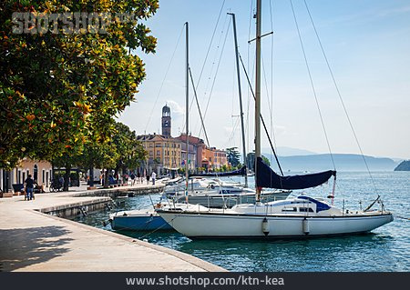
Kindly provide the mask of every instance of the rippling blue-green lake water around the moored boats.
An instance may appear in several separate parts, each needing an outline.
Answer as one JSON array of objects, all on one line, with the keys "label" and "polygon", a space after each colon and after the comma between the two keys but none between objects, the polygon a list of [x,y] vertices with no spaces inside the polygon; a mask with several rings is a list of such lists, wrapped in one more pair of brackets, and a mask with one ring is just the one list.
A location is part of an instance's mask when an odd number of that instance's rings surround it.
[{"label": "rippling blue-green lake water around the moored boats", "polygon": [[[300,240],[197,240],[176,232],[138,233],[118,231],[119,234],[147,239],[197,256],[230,271],[410,271],[410,172],[373,173],[341,172],[337,176],[334,205],[346,209],[363,208],[377,195],[382,196],[385,208],[392,211],[395,221],[368,235],[347,235],[331,238]],[[251,180],[253,182],[253,180]],[[307,193],[325,197],[333,182]],[[296,194],[296,192],[295,192]],[[154,202],[159,195],[151,195]],[[149,195],[116,200],[115,209],[128,210],[151,205]],[[110,212],[98,212],[77,221],[112,231],[104,226]],[[405,217],[405,218],[403,218]]]}]

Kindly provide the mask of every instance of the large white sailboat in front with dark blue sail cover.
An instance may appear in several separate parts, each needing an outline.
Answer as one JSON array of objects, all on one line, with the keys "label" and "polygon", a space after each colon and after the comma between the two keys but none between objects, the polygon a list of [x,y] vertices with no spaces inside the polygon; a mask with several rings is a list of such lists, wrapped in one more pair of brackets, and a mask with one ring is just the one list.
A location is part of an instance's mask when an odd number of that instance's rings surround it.
[{"label": "large white sailboat in front with dark blue sail cover", "polygon": [[[261,203],[261,189],[304,189],[323,185],[336,172],[309,175],[277,175],[261,158],[261,0],[256,8],[256,85],[255,85],[255,185],[256,203],[235,205],[231,209],[195,210],[181,205],[159,209],[157,213],[180,234],[190,238],[283,238],[367,233],[393,221],[384,210],[348,211],[324,199],[299,195],[282,201]],[[335,179],[334,179],[335,182]],[[334,186],[333,184],[333,195]],[[374,201],[380,201],[379,197]]]}]

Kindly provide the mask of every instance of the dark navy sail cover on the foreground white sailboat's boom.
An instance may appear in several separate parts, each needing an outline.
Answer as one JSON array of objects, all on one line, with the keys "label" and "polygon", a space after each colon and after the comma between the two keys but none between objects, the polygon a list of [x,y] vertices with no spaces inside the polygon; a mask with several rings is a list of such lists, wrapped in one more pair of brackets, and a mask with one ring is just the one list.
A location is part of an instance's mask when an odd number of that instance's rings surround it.
[{"label": "dark navy sail cover on the foreground white sailboat's boom", "polygon": [[303,189],[323,185],[332,175],[336,175],[333,170],[320,172],[311,175],[277,175],[270,166],[263,163],[258,157],[256,170],[256,184],[259,187],[278,189]]}]

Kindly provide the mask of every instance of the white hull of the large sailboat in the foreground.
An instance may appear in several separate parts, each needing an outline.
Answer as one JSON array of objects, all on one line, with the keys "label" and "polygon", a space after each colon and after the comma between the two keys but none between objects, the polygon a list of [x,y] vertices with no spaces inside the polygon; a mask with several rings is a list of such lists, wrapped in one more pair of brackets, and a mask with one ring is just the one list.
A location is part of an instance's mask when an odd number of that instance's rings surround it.
[{"label": "white hull of the large sailboat in the foreground", "polygon": [[[322,217],[159,211],[159,215],[180,234],[190,238],[279,238],[349,235],[370,232],[393,221],[393,215],[391,214]],[[265,222],[264,219],[266,219]]]}]

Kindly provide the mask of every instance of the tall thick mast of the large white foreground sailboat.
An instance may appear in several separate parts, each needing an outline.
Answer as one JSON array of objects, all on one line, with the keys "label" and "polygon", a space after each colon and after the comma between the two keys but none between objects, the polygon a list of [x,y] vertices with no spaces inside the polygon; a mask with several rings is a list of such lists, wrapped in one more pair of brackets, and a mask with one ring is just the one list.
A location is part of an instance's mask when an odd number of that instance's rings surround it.
[{"label": "tall thick mast of the large white foreground sailboat", "polygon": [[256,1],[256,84],[255,84],[255,186],[256,201],[261,201],[261,188],[257,186],[258,157],[261,157],[261,0]]}]

